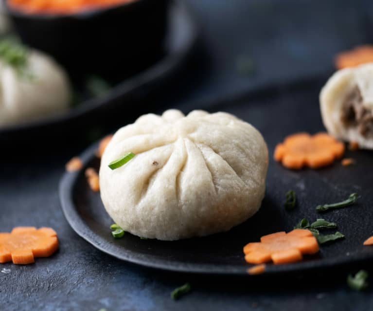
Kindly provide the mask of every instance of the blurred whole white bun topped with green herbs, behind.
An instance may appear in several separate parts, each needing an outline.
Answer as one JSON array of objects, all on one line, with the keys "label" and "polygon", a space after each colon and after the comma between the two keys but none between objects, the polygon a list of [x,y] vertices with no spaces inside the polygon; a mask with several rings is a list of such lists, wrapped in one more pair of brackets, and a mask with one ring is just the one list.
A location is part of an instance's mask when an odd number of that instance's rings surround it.
[{"label": "blurred whole white bun topped with green herbs, behind", "polygon": [[69,81],[52,58],[30,51],[23,73],[0,59],[0,126],[31,121],[68,109]]}]

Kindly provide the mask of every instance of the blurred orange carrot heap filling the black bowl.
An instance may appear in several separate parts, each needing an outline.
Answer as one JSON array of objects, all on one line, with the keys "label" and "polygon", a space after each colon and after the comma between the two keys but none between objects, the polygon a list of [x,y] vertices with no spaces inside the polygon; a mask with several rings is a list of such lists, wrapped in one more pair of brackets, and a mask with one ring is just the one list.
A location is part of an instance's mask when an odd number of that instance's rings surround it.
[{"label": "blurred orange carrot heap filling the black bowl", "polygon": [[8,0],[10,7],[25,13],[73,14],[102,9],[135,0]]}]

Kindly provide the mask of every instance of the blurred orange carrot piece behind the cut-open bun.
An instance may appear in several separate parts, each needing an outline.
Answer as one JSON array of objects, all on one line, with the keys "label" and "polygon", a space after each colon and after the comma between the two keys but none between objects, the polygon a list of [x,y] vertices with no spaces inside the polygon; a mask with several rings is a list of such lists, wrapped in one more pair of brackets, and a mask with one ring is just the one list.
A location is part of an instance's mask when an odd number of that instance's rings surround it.
[{"label": "blurred orange carrot piece behind the cut-open bun", "polygon": [[373,62],[373,45],[357,46],[350,51],[338,53],[335,58],[337,69],[356,67]]}]

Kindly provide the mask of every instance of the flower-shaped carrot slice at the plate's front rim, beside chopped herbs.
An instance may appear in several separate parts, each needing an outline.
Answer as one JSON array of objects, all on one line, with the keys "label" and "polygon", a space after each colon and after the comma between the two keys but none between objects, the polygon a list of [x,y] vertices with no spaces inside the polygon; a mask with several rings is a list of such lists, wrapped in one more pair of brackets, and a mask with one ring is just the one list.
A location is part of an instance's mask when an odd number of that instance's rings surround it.
[{"label": "flower-shaped carrot slice at the plate's front rim, beside chopped herbs", "polygon": [[273,261],[284,264],[300,261],[305,254],[319,252],[317,239],[309,230],[295,229],[289,233],[277,232],[249,243],[244,247],[245,260],[252,264]]}]

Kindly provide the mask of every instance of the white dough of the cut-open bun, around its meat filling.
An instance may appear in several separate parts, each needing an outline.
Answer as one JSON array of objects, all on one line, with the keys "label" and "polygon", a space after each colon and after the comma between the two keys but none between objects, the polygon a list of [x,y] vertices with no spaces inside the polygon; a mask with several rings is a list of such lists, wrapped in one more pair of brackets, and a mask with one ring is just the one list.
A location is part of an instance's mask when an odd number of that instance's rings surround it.
[{"label": "white dough of the cut-open bun, around its meat filling", "polygon": [[[334,73],[320,92],[322,121],[328,132],[336,138],[354,141],[362,148],[373,149],[373,135],[363,134],[359,121],[343,122],[346,100],[353,92],[360,100],[359,110],[364,114],[373,113],[373,63],[346,68]],[[355,98],[356,99],[356,98]],[[369,124],[369,123],[367,123]],[[373,126],[373,123],[372,123]]]}]

